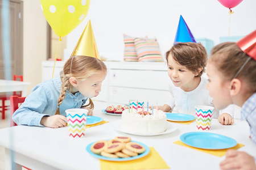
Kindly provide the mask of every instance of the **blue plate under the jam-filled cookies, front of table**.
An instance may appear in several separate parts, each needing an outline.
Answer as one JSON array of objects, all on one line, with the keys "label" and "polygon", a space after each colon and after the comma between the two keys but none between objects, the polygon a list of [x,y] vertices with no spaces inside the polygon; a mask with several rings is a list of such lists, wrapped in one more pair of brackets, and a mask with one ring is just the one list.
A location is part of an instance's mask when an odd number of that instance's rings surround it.
[{"label": "blue plate under the jam-filled cookies, front of table", "polygon": [[89,152],[90,155],[98,158],[98,159],[103,159],[103,160],[110,160],[110,161],[118,161],[118,162],[121,162],[121,161],[126,161],[126,160],[134,160],[134,159],[139,159],[139,158],[142,158],[144,156],[146,156],[149,152],[150,152],[150,148],[147,147],[146,145],[144,145],[143,143],[141,142],[137,142],[137,141],[131,141],[131,142],[136,142],[136,143],[139,143],[140,145],[142,145],[146,150],[142,153],[142,154],[139,154],[138,156],[133,156],[133,157],[129,157],[129,158],[107,158],[105,156],[101,156],[101,155],[98,155],[98,154],[94,154],[91,150],[90,150],[90,147],[93,145],[93,143],[90,143],[87,147],[86,147],[86,151]]}]

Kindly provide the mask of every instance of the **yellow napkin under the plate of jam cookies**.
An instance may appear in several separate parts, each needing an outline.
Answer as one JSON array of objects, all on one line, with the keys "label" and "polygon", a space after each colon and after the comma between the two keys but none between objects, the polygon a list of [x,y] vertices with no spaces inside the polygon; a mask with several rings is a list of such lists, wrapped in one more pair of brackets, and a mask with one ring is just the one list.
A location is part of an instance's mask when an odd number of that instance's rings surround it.
[{"label": "yellow napkin under the plate of jam cookies", "polygon": [[101,170],[137,170],[137,169],[168,169],[168,165],[163,158],[156,152],[154,147],[150,147],[150,152],[143,158],[112,162],[108,160],[100,160]]}]

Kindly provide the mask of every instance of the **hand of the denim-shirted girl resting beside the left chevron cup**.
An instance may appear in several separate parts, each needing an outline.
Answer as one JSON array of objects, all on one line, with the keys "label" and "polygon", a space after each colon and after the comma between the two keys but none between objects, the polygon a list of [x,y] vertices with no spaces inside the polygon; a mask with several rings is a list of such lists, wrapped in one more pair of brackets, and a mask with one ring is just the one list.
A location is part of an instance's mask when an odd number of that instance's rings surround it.
[{"label": "hand of the denim-shirted girl resting beside the left chevron cup", "polygon": [[60,128],[66,126],[66,122],[68,122],[67,117],[62,115],[53,115],[50,117],[42,117],[40,124],[49,128]]}]

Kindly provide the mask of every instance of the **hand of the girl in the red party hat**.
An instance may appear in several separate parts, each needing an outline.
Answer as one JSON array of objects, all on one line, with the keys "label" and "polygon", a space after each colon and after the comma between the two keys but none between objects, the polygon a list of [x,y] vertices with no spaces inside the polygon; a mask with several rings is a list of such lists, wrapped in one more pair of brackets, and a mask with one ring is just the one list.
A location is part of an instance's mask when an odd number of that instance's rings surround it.
[{"label": "hand of the girl in the red party hat", "polygon": [[228,150],[226,159],[220,163],[221,169],[256,169],[253,156],[236,150]]}]

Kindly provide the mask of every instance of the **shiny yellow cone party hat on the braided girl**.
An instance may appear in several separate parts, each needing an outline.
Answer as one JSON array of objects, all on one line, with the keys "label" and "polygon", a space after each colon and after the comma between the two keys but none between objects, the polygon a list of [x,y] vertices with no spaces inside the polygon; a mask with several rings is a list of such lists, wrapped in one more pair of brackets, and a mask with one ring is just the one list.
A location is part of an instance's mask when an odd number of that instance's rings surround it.
[{"label": "shiny yellow cone party hat on the braided girl", "polygon": [[84,32],[82,32],[82,35],[77,42],[71,56],[88,56],[101,59],[100,54],[98,53],[98,48],[96,45],[90,20],[84,28]]}]

